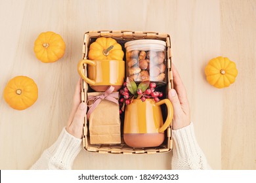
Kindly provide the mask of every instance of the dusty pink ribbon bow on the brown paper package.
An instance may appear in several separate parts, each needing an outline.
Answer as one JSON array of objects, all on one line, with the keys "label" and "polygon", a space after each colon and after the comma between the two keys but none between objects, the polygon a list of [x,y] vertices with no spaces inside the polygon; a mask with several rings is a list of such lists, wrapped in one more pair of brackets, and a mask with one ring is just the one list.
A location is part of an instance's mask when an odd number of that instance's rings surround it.
[{"label": "dusty pink ribbon bow on the brown paper package", "polygon": [[98,106],[98,104],[104,99],[111,101],[113,103],[116,103],[118,105],[118,100],[116,99],[116,98],[118,98],[118,93],[113,93],[114,89],[115,89],[114,86],[110,86],[110,87],[108,87],[106,92],[104,92],[104,94],[88,97],[87,103],[89,101],[93,101],[93,104],[89,105],[89,110],[87,112],[87,120],[89,120],[91,113],[93,113],[93,110],[95,110],[95,108]]}]

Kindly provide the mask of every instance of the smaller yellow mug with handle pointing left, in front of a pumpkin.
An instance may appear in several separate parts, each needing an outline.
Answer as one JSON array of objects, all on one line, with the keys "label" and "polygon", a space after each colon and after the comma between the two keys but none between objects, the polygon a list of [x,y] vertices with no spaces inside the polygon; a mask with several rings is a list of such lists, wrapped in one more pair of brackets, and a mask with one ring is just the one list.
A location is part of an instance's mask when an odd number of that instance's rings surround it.
[{"label": "smaller yellow mug with handle pointing left, in front of a pumpkin", "polygon": [[[83,73],[83,64],[88,65],[88,77]],[[105,92],[109,86],[114,86],[116,92],[123,85],[125,77],[125,61],[102,59],[82,59],[77,65],[81,78],[96,92]]]}]

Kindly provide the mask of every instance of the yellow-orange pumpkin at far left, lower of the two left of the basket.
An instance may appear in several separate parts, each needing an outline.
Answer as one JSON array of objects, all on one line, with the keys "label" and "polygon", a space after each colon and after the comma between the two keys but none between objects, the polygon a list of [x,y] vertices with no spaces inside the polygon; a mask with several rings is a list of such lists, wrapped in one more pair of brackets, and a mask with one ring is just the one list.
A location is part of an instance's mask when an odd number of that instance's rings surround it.
[{"label": "yellow-orange pumpkin at far left, lower of the two left of the basket", "polygon": [[37,84],[27,76],[12,78],[3,92],[5,101],[16,110],[24,110],[35,103],[38,96]]}]

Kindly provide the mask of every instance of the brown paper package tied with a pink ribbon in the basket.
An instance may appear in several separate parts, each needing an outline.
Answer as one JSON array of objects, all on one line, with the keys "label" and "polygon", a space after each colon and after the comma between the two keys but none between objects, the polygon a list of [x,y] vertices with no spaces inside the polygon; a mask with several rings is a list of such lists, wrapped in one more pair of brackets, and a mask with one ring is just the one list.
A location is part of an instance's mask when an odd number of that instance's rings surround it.
[{"label": "brown paper package tied with a pink ribbon in the basket", "polygon": [[[108,97],[104,97],[104,92],[87,93],[87,95],[89,99],[87,120],[89,120],[91,144],[121,143],[118,92],[113,92],[110,94],[112,96],[108,95]],[[110,97],[113,100],[109,100]],[[116,102],[113,102],[114,99]]]}]

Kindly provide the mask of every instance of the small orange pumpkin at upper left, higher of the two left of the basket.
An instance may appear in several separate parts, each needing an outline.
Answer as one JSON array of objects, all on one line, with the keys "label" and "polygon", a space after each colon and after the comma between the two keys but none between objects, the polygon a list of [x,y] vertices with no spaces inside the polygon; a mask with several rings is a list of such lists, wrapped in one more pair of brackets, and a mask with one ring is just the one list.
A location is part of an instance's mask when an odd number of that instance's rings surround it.
[{"label": "small orange pumpkin at upper left, higher of the two left of the basket", "polygon": [[41,33],[35,40],[33,50],[37,59],[52,63],[64,56],[66,44],[62,37],[54,32]]}]

